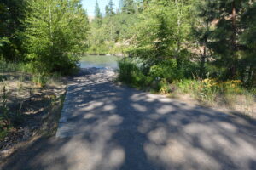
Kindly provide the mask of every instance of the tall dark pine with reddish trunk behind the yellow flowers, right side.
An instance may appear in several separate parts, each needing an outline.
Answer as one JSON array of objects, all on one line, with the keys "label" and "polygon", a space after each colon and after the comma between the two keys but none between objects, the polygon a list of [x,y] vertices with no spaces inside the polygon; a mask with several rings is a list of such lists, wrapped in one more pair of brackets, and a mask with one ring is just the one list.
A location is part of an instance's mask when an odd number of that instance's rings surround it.
[{"label": "tall dark pine with reddish trunk behind the yellow flowers, right side", "polygon": [[249,2],[249,0],[214,1],[212,18],[216,23],[216,29],[212,33],[211,48],[216,54],[217,65],[226,68],[224,78],[239,76],[241,14],[244,13]]}]

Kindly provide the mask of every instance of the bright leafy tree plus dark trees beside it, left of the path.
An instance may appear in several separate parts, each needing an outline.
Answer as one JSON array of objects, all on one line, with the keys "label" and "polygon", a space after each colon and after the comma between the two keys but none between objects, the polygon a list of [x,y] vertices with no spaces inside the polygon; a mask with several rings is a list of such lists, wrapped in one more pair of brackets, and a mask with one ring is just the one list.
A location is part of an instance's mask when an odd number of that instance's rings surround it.
[{"label": "bright leafy tree plus dark trees beside it, left of the path", "polygon": [[0,57],[32,72],[68,74],[84,50],[88,17],[79,0],[10,0],[0,3]]}]

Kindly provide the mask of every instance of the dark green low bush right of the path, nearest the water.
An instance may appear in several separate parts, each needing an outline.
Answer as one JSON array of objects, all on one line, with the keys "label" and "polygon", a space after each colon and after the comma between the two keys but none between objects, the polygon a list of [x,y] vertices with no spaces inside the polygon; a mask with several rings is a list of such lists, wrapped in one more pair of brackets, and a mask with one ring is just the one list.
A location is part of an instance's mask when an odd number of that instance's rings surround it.
[{"label": "dark green low bush right of the path, nearest the water", "polygon": [[125,58],[119,61],[119,81],[135,88],[152,88],[156,92],[168,93],[171,91],[170,83],[182,80],[186,76],[183,70],[177,68],[175,59],[151,66],[146,74],[143,71],[143,64],[140,65],[136,59]]}]

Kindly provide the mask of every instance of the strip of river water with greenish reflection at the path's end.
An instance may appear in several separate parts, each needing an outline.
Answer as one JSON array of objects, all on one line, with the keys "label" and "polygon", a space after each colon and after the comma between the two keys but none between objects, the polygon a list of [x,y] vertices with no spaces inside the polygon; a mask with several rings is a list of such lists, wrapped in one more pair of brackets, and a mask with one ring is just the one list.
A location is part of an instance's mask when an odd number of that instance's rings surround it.
[{"label": "strip of river water with greenish reflection at the path's end", "polygon": [[80,59],[79,66],[81,68],[118,68],[118,60],[120,57],[115,56],[98,56],[98,55],[84,55]]}]

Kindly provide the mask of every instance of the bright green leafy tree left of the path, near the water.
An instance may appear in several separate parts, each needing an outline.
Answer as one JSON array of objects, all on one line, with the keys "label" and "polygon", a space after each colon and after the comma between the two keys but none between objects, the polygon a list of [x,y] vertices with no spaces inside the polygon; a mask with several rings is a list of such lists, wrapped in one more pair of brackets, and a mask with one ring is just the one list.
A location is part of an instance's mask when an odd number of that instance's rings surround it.
[{"label": "bright green leafy tree left of the path, near the water", "polygon": [[40,72],[70,73],[79,60],[88,31],[87,16],[78,0],[28,1],[24,25],[26,59]]}]

